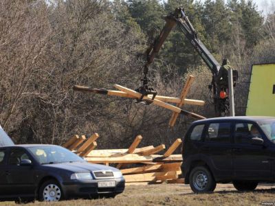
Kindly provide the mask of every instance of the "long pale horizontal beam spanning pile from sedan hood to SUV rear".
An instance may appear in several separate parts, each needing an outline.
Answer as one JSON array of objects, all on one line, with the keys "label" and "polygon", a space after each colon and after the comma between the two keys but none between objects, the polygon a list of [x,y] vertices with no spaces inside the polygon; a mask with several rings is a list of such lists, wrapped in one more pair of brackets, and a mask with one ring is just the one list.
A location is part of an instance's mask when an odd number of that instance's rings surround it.
[{"label": "long pale horizontal beam spanning pile from sedan hood to SUV rear", "polygon": [[140,163],[140,162],[167,162],[182,161],[181,155],[170,155],[163,157],[162,155],[140,156],[137,154],[127,154],[122,157],[86,157],[91,163]]}]

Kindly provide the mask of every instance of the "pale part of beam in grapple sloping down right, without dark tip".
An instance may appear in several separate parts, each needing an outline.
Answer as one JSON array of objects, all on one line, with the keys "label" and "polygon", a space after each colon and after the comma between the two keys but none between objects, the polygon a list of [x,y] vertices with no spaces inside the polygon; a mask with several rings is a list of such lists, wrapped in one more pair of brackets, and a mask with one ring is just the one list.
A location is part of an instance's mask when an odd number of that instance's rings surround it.
[{"label": "pale part of beam in grapple sloping down right, without dark tip", "polygon": [[[133,95],[135,98],[140,99],[142,97],[141,93],[138,93],[138,92],[133,91],[132,89],[128,89],[126,87],[122,87],[122,86],[120,86],[118,84],[115,84],[115,88],[119,89],[120,91],[124,91],[126,93],[129,93],[130,95]],[[150,100],[151,101],[151,98],[148,98],[147,96],[144,96],[144,100]],[[176,113],[181,113],[181,109],[178,108],[177,106],[173,106],[171,104],[167,104],[167,103],[162,102],[162,101],[157,100],[157,99],[153,100],[153,104],[155,104],[157,106],[161,106],[163,108],[167,108],[167,109],[169,109],[171,111],[174,111]]]}]

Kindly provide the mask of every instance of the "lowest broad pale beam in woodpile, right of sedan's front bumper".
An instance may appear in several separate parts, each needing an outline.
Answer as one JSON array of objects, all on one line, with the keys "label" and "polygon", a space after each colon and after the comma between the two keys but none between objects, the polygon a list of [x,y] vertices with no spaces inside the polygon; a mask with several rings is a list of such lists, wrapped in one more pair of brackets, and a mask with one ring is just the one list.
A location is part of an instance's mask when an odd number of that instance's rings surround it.
[{"label": "lowest broad pale beam in woodpile, right of sedan's front bumper", "polygon": [[175,172],[150,172],[144,174],[126,174],[124,179],[126,182],[144,182],[144,181],[157,181],[157,176],[175,175]]}]

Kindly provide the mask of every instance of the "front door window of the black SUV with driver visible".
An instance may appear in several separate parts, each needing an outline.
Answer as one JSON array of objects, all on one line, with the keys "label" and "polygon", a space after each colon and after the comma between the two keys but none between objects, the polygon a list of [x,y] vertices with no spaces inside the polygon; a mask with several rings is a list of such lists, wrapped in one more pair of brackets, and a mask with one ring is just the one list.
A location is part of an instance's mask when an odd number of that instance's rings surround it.
[{"label": "front door window of the black SUV with driver visible", "polygon": [[234,139],[239,144],[251,144],[253,137],[261,137],[261,134],[254,124],[239,122],[235,124]]}]

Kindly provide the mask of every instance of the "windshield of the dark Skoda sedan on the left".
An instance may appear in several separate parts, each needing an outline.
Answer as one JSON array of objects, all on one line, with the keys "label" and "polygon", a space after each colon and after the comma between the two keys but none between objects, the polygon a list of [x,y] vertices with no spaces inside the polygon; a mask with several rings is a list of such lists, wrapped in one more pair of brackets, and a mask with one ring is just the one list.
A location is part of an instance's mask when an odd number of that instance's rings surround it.
[{"label": "windshield of the dark Skoda sedan on the left", "polygon": [[85,161],[61,146],[34,146],[28,149],[41,164]]}]

